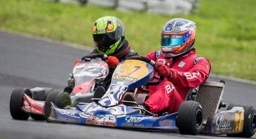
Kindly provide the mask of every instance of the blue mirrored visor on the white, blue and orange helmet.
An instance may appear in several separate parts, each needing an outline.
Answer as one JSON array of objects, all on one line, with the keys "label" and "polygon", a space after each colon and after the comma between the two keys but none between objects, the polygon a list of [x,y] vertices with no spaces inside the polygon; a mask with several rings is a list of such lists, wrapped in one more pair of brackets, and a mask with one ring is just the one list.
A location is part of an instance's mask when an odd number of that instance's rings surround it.
[{"label": "blue mirrored visor on the white, blue and orange helmet", "polygon": [[185,44],[190,34],[161,34],[161,46],[180,46]]}]

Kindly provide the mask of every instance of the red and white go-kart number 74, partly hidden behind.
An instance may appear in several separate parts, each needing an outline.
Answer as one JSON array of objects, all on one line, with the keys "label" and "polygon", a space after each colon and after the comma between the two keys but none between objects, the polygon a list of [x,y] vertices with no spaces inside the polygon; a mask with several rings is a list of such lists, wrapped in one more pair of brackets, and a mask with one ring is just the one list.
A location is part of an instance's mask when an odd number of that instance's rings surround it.
[{"label": "red and white go-kart number 74, partly hidden behind", "polygon": [[[74,88],[66,87],[64,91],[68,97],[67,103],[78,101],[90,102],[93,97],[93,90],[96,83],[103,81],[109,73],[108,64],[104,61],[108,59],[104,54],[92,54],[84,56],[76,62],[73,69],[75,81]],[[53,99],[57,90],[47,87],[35,87],[32,89],[14,89],[10,98],[10,113],[14,119],[26,120],[31,115],[33,119],[44,120],[49,115],[45,115],[46,109],[50,110],[50,105],[45,105],[47,99]],[[52,94],[52,95],[51,95]],[[58,98],[55,98],[58,99]],[[59,106],[60,107],[60,106]]]}]

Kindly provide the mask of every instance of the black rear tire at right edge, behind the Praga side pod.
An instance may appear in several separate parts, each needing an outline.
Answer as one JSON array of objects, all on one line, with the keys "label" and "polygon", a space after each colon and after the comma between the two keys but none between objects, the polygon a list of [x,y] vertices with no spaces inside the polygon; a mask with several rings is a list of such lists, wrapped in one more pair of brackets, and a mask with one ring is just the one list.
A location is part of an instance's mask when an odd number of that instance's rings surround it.
[{"label": "black rear tire at right edge, behind the Praga side pod", "polygon": [[244,108],[244,126],[243,131],[238,134],[227,135],[229,137],[252,137],[256,131],[256,110],[253,106],[247,104],[232,103],[228,106],[227,110],[233,107]]}]

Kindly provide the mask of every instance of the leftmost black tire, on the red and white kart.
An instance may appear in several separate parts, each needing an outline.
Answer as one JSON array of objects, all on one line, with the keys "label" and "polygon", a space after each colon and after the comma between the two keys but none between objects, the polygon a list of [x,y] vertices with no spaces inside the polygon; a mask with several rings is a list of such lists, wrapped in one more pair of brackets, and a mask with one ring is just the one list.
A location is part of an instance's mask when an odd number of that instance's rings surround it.
[{"label": "leftmost black tire, on the red and white kart", "polygon": [[10,98],[10,113],[13,119],[27,120],[30,116],[30,113],[22,111],[21,109],[23,106],[23,93],[32,98],[30,89],[18,88],[12,91]]}]

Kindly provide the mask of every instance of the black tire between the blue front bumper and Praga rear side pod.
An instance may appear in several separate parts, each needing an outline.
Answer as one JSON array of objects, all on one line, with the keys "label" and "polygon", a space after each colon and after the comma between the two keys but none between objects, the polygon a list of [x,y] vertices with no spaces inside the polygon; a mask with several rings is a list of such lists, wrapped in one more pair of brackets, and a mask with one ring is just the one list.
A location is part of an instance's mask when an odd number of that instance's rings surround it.
[{"label": "black tire between the blue front bumper and Praga rear side pod", "polygon": [[180,134],[197,135],[203,126],[202,106],[196,101],[184,101],[178,109],[176,126]]}]

